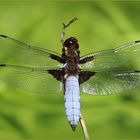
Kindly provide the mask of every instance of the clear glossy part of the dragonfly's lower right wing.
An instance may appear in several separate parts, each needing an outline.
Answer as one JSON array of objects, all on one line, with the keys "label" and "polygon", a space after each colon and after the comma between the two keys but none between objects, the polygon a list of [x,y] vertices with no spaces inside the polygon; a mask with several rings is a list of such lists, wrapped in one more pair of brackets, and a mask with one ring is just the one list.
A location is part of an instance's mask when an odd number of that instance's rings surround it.
[{"label": "clear glossy part of the dragonfly's lower right wing", "polygon": [[80,89],[92,95],[111,95],[137,86],[140,86],[140,71],[104,71],[95,73]]}]

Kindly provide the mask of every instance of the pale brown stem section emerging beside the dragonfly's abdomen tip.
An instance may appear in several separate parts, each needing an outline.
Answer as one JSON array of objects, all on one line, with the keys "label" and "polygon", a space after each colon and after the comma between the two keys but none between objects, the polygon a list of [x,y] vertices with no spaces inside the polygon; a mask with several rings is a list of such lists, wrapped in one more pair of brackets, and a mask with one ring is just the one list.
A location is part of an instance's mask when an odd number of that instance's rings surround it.
[{"label": "pale brown stem section emerging beside the dragonfly's abdomen tip", "polygon": [[84,121],[84,118],[83,118],[82,114],[80,114],[80,124],[81,124],[81,127],[82,127],[82,131],[83,131],[85,140],[89,140],[87,127],[86,127],[86,124],[85,124],[85,121]]}]

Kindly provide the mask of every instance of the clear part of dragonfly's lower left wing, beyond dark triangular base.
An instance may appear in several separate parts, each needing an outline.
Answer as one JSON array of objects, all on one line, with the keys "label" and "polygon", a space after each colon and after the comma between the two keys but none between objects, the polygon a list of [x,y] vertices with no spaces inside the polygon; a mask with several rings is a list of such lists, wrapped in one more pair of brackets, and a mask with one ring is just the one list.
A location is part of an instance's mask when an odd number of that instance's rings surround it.
[{"label": "clear part of dragonfly's lower left wing, beyond dark triangular base", "polygon": [[16,65],[0,65],[0,80],[10,86],[34,93],[60,93],[62,83],[57,81],[44,68],[31,68]]}]

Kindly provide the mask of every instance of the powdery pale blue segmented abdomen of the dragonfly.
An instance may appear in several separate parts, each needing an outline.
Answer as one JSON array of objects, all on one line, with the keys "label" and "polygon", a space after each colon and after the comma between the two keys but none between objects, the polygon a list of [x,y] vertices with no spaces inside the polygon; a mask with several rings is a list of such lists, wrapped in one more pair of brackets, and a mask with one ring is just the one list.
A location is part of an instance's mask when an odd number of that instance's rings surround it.
[{"label": "powdery pale blue segmented abdomen of the dragonfly", "polygon": [[67,119],[75,130],[80,118],[80,92],[76,76],[69,76],[66,79],[64,101]]}]

